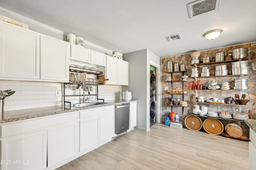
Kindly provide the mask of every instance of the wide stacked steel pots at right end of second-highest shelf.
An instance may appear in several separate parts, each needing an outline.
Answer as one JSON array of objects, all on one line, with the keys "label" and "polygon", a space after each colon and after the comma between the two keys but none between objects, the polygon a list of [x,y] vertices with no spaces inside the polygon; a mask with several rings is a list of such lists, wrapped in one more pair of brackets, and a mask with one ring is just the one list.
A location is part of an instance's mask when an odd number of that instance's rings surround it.
[{"label": "wide stacked steel pots at right end of second-highest shelf", "polygon": [[237,61],[232,63],[232,75],[250,74],[249,61]]}]

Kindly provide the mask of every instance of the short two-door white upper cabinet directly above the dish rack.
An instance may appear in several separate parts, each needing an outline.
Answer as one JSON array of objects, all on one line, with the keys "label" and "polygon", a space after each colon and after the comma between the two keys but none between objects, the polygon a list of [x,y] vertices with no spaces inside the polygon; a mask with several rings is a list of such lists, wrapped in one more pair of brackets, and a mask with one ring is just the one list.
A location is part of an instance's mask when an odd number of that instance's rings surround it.
[{"label": "short two-door white upper cabinet directly above the dish rack", "polygon": [[70,59],[106,66],[106,55],[71,44]]}]

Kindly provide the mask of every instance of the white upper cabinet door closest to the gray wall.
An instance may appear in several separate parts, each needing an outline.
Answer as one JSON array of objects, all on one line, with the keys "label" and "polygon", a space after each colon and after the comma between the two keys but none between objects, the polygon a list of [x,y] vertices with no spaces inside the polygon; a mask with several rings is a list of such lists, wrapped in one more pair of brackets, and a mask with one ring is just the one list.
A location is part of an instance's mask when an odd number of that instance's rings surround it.
[{"label": "white upper cabinet door closest to the gray wall", "polygon": [[117,82],[120,85],[128,85],[128,62],[118,60]]}]

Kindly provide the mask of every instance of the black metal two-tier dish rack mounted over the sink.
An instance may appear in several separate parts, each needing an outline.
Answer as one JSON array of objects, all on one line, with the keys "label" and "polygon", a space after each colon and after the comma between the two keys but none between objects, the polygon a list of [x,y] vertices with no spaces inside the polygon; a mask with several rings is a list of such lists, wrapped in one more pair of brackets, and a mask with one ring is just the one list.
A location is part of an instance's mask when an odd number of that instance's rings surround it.
[{"label": "black metal two-tier dish rack mounted over the sink", "polygon": [[[78,72],[78,73],[86,73],[86,74],[93,74],[93,75],[96,75],[97,76],[97,79],[98,79],[98,76],[99,75],[103,75],[103,72],[102,71],[98,71],[98,70],[92,70],[92,69],[88,69],[88,68],[82,68],[82,67],[75,67],[75,66],[69,66],[69,71],[70,72]],[[80,84],[81,88],[83,89],[84,91],[84,94],[74,94],[74,95],[67,95],[66,94],[66,90],[67,90],[67,85],[70,85],[70,84]],[[81,81],[81,80],[69,80],[68,83],[63,83],[63,89],[64,89],[64,105],[68,104],[69,107],[71,108],[71,102],[69,101],[66,101],[66,98],[67,97],[76,97],[76,96],[83,96],[85,98],[85,96],[96,96],[96,100],[103,100],[104,102],[104,99],[99,99],[98,98],[98,85],[104,85],[104,82],[91,82],[91,81]],[[88,89],[88,86],[95,86],[95,90],[96,90],[96,94],[85,94],[86,91],[90,91],[90,90],[86,90]],[[75,89],[77,90],[77,89]]]}]

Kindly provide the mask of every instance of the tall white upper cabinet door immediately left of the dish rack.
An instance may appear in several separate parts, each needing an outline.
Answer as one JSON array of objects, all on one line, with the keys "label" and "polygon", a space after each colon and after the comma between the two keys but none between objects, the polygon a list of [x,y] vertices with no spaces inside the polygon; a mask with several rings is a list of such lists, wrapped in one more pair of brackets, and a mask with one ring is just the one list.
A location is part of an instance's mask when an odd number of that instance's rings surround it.
[{"label": "tall white upper cabinet door immediately left of the dish rack", "polygon": [[68,82],[70,45],[52,37],[40,37],[41,80]]}]

